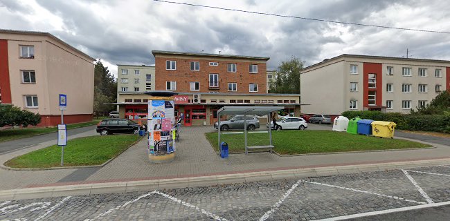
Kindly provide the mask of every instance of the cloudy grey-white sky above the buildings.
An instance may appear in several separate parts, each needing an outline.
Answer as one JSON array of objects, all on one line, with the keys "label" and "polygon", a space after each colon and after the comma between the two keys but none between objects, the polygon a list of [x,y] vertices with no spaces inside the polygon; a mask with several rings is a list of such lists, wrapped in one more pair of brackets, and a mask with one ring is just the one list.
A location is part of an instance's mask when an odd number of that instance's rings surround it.
[{"label": "cloudy grey-white sky above the buildings", "polygon": [[[426,0],[193,1],[279,15],[450,32],[450,4]],[[0,0],[0,28],[51,32],[116,64],[153,64],[151,50],[291,56],[307,65],[343,53],[450,59],[450,34],[348,26],[152,0]]]}]

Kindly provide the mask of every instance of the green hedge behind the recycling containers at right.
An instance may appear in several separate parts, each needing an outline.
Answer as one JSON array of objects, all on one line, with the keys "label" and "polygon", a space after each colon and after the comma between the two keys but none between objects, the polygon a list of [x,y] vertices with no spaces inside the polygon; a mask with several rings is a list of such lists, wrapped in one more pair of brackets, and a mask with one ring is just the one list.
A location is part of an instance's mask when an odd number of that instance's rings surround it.
[{"label": "green hedge behind the recycling containers at right", "polygon": [[408,131],[435,131],[450,133],[450,113],[442,115],[411,115],[403,113],[382,113],[380,111],[344,111],[343,116],[348,119],[381,120],[395,122],[397,129]]}]

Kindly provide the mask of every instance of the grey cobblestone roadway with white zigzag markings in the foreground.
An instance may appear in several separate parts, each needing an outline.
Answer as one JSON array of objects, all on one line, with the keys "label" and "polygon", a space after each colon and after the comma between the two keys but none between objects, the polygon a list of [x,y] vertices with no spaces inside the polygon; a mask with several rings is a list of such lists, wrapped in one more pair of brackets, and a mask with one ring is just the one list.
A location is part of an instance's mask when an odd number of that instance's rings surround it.
[{"label": "grey cobblestone roadway with white zigzag markings in the foreground", "polygon": [[[374,211],[447,204],[449,186],[450,166],[429,166],[301,180],[6,201],[0,202],[0,220],[341,220],[361,218]],[[379,213],[383,219],[398,215]]]}]

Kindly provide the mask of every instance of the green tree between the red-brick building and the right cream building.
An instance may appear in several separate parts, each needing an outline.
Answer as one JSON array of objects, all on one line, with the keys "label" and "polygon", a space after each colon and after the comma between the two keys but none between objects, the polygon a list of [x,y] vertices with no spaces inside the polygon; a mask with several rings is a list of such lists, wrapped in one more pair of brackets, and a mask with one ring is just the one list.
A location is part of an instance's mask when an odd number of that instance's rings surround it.
[{"label": "green tree between the red-brick building and the right cream building", "polygon": [[300,93],[300,70],[304,61],[291,57],[289,61],[282,61],[275,72],[275,81],[269,88],[269,93]]}]

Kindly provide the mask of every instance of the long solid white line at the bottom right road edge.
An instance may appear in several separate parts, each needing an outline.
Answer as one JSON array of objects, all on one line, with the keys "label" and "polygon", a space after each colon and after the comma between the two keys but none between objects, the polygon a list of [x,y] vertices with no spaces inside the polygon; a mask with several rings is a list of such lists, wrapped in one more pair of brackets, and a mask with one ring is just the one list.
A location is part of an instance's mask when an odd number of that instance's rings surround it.
[{"label": "long solid white line at the bottom right road edge", "polygon": [[383,215],[386,213],[397,213],[397,212],[402,212],[402,211],[411,211],[414,209],[425,209],[425,208],[430,208],[430,207],[446,206],[446,205],[450,205],[450,201],[422,204],[422,205],[417,205],[417,206],[406,206],[406,207],[401,207],[401,208],[386,209],[386,210],[373,211],[373,212],[367,212],[367,213],[357,213],[357,214],[352,214],[352,215],[336,216],[334,218],[327,218],[327,219],[323,219],[321,221],[348,220],[348,219],[366,217],[366,216],[370,216],[370,215]]}]

